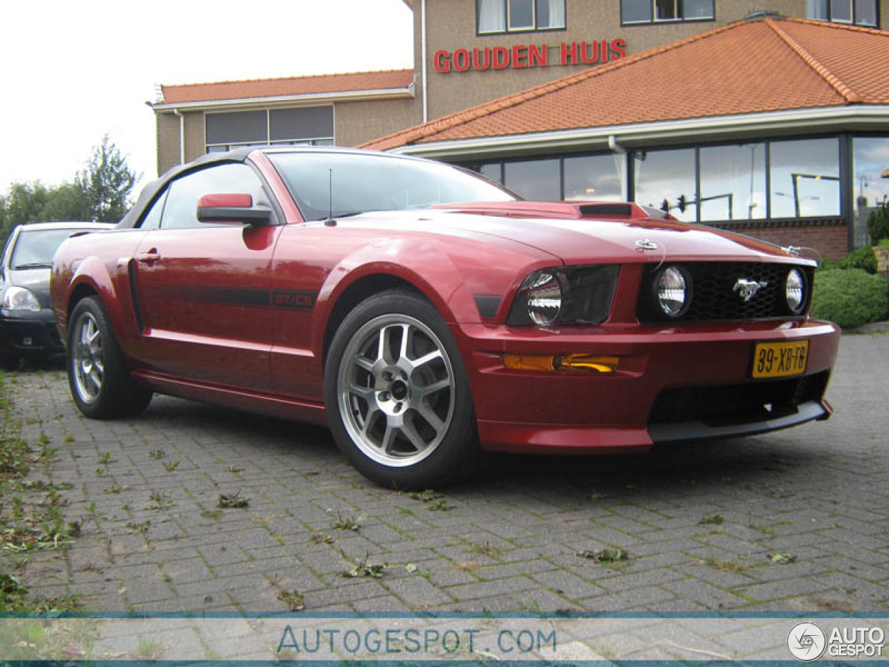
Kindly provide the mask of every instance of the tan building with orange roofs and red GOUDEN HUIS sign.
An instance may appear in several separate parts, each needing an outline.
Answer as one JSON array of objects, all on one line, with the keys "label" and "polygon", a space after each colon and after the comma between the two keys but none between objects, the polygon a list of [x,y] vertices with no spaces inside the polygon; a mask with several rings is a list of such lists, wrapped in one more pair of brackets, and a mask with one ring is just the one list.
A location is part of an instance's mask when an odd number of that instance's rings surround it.
[{"label": "tan building with orange roofs and red GOUDEN HUIS sign", "polygon": [[877,0],[404,2],[413,70],[164,86],[159,169],[239,145],[365,145],[831,258],[889,197]]}]

